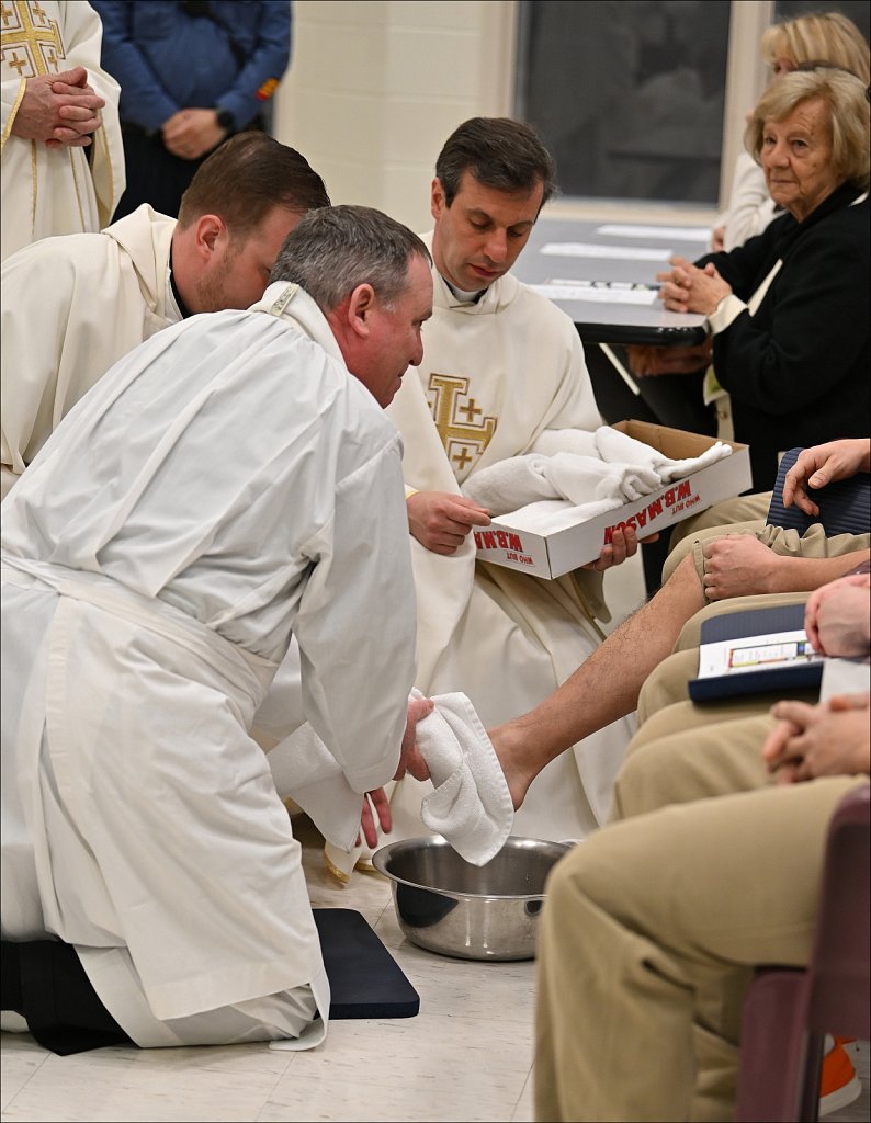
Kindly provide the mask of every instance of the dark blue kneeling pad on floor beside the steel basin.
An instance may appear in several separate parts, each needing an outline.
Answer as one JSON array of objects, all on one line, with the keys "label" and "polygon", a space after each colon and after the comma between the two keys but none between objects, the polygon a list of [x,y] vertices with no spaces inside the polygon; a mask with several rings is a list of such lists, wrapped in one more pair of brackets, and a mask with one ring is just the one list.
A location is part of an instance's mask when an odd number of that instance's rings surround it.
[{"label": "dark blue kneeling pad on floor beside the steel basin", "polygon": [[329,979],[329,1016],[414,1017],[420,996],[362,913],[312,909]]}]

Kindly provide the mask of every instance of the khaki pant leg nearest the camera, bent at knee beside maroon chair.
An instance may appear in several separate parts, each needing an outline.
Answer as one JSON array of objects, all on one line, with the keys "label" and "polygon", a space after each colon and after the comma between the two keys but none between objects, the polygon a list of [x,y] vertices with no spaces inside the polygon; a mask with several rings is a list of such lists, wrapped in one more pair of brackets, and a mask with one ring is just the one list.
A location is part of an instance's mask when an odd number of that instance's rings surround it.
[{"label": "khaki pant leg nearest the camera, bent at knee beside maroon chair", "polygon": [[537,1120],[733,1119],[752,968],[807,962],[826,830],[856,783],[670,806],[557,865],[538,944]]}]

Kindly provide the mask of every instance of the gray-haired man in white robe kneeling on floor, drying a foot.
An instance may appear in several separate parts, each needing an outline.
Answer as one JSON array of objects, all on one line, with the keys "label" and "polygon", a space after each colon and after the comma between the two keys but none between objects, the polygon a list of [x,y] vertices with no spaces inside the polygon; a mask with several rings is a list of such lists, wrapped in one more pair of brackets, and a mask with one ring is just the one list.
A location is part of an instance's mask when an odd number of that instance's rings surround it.
[{"label": "gray-haired man in white robe kneeling on floor, drying a foot", "polygon": [[46,1048],[324,1039],[300,846],[248,730],[293,634],[352,814],[427,775],[381,408],[432,295],[403,226],[315,211],[260,303],[137,347],[3,503],[2,1005]]}]

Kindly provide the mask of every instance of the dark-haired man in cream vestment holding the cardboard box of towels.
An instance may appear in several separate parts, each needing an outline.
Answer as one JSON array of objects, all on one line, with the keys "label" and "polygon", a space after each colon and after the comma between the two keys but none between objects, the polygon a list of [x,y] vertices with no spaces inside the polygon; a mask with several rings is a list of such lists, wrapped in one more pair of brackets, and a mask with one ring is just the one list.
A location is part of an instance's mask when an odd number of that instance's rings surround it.
[{"label": "dark-haired man in cream vestment holding the cardboard box of towels", "polygon": [[[424,362],[389,410],[405,441],[417,685],[427,694],[463,691],[484,724],[541,702],[596,649],[593,617],[608,619],[601,572],[637,548],[633,531],[618,533],[597,572],[557,581],[475,562],[471,530],[490,519],[461,494],[469,475],[528,451],[547,430],[601,424],[574,325],[509,272],[554,190],[554,171],[518,121],[474,118],[448,138],[432,188],[435,298]],[[593,830],[629,736],[620,721],[539,776],[517,833]],[[423,793],[406,780],[393,791],[398,830],[420,832]]]}]

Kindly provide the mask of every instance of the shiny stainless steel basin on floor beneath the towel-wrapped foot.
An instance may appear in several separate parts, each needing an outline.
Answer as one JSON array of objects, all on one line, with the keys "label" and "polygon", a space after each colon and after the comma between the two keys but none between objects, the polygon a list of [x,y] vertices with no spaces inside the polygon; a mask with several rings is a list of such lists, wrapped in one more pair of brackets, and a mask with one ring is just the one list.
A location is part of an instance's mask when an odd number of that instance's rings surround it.
[{"label": "shiny stainless steel basin on floor beneath the towel-wrapped foot", "polygon": [[570,849],[511,837],[486,866],[472,866],[429,837],[391,842],[372,862],[390,878],[412,943],[460,959],[533,959],[545,879]]}]

